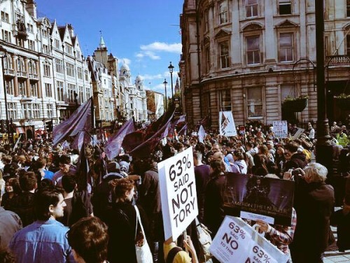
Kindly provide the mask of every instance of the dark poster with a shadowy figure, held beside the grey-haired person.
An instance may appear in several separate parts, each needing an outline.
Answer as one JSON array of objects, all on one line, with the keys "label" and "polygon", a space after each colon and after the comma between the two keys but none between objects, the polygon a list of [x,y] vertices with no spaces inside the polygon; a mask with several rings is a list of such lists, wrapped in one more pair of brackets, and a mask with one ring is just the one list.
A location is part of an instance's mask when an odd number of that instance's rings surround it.
[{"label": "dark poster with a shadowy figure, held beside the grey-haired person", "polygon": [[256,175],[228,173],[226,215],[290,226],[294,182]]}]

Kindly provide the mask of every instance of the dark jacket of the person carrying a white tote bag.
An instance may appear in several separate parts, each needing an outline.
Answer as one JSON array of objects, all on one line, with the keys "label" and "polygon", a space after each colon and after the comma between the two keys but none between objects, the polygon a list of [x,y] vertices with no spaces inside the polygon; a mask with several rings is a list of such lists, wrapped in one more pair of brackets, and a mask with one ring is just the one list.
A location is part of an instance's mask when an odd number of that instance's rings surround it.
[{"label": "dark jacket of the person carrying a white tote bag", "polygon": [[[138,205],[142,225],[148,238],[148,220],[144,210]],[[135,250],[137,215],[132,203],[114,203],[106,218],[109,227],[108,260],[110,263],[137,263]]]}]

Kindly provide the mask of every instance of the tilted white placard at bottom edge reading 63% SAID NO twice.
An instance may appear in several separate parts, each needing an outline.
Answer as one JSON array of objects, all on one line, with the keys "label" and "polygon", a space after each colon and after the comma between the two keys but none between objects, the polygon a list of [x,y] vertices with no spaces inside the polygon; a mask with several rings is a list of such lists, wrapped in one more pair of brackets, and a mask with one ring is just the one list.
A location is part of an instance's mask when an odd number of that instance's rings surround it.
[{"label": "tilted white placard at bottom edge reading 63% SAID NO twice", "polygon": [[221,263],[286,263],[288,257],[251,226],[226,216],[209,248]]}]

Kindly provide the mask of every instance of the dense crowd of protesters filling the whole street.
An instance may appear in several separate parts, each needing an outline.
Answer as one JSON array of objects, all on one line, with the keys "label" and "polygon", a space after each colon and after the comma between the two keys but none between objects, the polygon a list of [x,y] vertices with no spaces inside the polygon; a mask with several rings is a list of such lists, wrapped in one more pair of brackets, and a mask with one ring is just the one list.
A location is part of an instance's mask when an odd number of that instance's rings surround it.
[{"label": "dense crowd of protesters filling the whole street", "polygon": [[[290,135],[296,131],[288,126]],[[349,133],[337,123],[331,131],[333,158],[341,161],[346,177]],[[294,140],[276,137],[273,127],[264,133],[253,126],[235,137],[208,133],[202,142],[197,135],[173,135],[160,142],[149,159],[133,159],[122,150],[107,160],[103,144],[88,145],[87,169],[79,151],[66,142],[52,148],[51,140],[37,137],[16,149],[2,144],[0,262],[132,263],[137,262],[135,245],[144,243],[153,262],[200,262],[195,223],[188,227],[190,237],[165,241],[160,203],[157,163],[188,147],[194,149],[198,220],[212,238],[225,217],[230,173],[294,180],[290,227],[256,223],[289,262],[323,262],[332,242],[331,223],[342,229],[339,251],[350,249],[350,194],[345,194],[344,208],[334,213],[334,189],[325,182],[330,171],[314,162],[315,137],[311,123]]]}]

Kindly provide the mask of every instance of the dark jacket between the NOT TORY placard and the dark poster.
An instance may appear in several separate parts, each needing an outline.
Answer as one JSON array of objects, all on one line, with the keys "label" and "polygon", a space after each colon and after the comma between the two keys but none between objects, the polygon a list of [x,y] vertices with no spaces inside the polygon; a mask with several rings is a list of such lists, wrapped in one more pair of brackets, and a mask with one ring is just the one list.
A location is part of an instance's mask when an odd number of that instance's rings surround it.
[{"label": "dark jacket between the NOT TORY placard and the dark poster", "polygon": [[204,224],[211,231],[214,238],[225,213],[223,210],[226,176],[216,175],[211,177],[204,194]]}]

